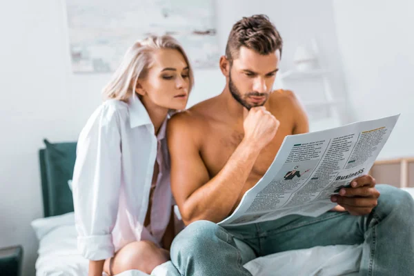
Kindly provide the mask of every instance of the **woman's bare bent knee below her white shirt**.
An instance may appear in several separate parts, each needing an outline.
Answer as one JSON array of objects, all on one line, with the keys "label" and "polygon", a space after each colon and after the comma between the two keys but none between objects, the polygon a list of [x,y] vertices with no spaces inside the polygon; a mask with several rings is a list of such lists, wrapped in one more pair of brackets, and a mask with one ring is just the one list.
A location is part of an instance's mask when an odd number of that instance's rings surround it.
[{"label": "woman's bare bent knee below her white shirt", "polygon": [[168,251],[158,248],[154,243],[148,241],[132,242],[117,253],[115,259],[117,269],[114,269],[114,273],[136,269],[150,274],[156,266],[164,264],[168,260]]}]

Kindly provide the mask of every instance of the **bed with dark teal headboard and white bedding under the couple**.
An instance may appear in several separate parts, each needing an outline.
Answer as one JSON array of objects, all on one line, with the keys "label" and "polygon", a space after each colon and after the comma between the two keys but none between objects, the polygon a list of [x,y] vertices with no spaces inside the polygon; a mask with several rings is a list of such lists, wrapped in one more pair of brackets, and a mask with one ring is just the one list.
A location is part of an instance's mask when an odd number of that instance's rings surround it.
[{"label": "bed with dark teal headboard and white bedding under the couple", "polygon": [[[88,260],[77,251],[77,234],[73,214],[72,179],[76,143],[52,144],[39,150],[44,217],[32,221],[39,239],[37,276],[88,275]],[[407,188],[414,197],[414,188]],[[317,246],[259,257],[245,264],[255,276],[268,275],[357,275],[362,247]],[[169,275],[161,265],[153,273]],[[121,276],[146,275],[130,270]]]}]

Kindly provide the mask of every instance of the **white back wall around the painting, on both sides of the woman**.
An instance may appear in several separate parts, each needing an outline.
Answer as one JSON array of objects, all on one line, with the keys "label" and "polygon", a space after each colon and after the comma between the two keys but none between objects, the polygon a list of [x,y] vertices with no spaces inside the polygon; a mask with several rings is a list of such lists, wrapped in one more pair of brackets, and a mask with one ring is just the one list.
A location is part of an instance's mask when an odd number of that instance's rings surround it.
[{"label": "white back wall around the painting, on both sides of the woman", "polygon": [[[219,3],[220,2],[220,3]],[[284,37],[282,70],[291,66],[299,44],[317,37],[331,66],[338,93],[343,92],[341,64],[331,1],[219,1],[217,29],[221,52],[238,19],[265,13]],[[42,139],[75,141],[86,119],[101,102],[109,75],[73,75],[63,0],[16,0],[0,3],[0,247],[23,244],[24,275],[34,273],[37,240],[30,228],[42,217],[37,150]],[[189,105],[221,92],[217,68],[197,70]]]}]

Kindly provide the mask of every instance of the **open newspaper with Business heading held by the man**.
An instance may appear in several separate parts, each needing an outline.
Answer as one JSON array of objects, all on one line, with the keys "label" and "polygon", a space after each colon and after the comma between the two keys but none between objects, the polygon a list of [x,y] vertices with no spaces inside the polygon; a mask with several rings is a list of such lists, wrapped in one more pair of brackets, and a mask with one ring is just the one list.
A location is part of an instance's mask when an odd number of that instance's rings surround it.
[{"label": "open newspaper with Business heading held by the man", "polygon": [[266,174],[221,226],[286,215],[317,217],[336,204],[331,195],[367,175],[400,115],[286,136]]}]

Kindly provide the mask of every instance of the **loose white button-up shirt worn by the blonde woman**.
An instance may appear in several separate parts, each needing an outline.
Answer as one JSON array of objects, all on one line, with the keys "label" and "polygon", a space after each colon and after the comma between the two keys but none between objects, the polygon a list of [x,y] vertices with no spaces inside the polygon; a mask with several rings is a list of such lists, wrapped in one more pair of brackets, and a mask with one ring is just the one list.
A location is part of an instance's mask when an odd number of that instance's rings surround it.
[{"label": "loose white button-up shirt worn by the blonde woman", "polygon": [[[173,202],[166,121],[156,137],[146,108],[134,96],[128,103],[105,101],[81,131],[72,186],[78,248],[86,259],[107,259],[140,240],[160,246]],[[159,175],[147,229],[155,161]]]}]

